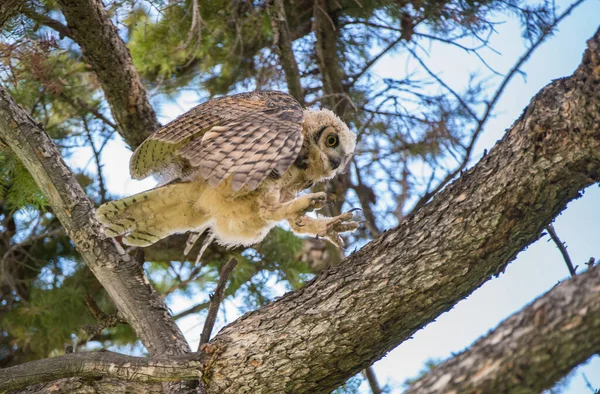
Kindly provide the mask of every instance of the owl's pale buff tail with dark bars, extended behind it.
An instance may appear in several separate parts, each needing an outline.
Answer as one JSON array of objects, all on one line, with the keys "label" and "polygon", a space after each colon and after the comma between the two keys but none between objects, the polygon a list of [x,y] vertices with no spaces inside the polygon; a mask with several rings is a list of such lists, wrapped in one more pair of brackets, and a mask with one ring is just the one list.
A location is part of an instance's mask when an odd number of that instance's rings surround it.
[{"label": "owl's pale buff tail with dark bars, extended behind it", "polygon": [[96,217],[109,237],[125,234],[123,243],[126,245],[152,245],[206,222],[206,215],[193,207],[188,185],[165,185],[108,202],[98,208]]}]

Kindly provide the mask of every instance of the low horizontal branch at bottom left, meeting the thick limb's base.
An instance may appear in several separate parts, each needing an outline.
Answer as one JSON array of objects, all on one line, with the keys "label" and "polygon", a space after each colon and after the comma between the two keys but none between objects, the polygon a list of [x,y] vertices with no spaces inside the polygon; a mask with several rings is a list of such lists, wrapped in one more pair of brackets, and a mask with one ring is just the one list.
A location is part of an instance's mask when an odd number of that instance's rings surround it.
[{"label": "low horizontal branch at bottom left, meeting the thick limb's base", "polygon": [[0,369],[0,391],[79,376],[134,382],[200,379],[210,356],[192,353],[169,358],[144,358],[100,351],[70,353]]}]

